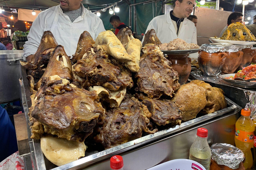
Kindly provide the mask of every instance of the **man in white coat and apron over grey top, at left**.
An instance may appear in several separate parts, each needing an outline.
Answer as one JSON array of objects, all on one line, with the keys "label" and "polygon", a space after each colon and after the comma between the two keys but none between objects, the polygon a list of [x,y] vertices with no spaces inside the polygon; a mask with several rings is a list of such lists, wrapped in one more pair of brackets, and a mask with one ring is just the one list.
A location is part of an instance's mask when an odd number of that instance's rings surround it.
[{"label": "man in white coat and apron over grey top, at left", "polygon": [[82,0],[59,1],[60,5],[42,11],[33,22],[23,49],[23,58],[27,61],[36,52],[45,31],[52,32],[68,56],[75,53],[83,31],[88,31],[94,40],[99,33],[105,31],[102,20],[85,9]]}]

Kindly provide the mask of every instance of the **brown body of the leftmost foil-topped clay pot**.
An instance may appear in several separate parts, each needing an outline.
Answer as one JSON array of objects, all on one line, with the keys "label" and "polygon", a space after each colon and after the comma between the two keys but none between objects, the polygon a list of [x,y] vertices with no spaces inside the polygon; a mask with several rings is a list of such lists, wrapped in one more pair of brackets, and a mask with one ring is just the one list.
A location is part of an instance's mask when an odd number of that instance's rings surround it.
[{"label": "brown body of the leftmost foil-topped clay pot", "polygon": [[222,68],[227,54],[225,52],[208,53],[199,51],[198,65],[204,75],[216,76]]}]

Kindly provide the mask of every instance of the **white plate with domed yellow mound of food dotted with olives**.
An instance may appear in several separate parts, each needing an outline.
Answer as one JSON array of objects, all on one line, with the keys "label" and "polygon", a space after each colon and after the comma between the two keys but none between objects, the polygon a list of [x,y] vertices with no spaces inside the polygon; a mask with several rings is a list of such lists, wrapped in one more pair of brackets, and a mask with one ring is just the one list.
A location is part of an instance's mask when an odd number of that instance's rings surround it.
[{"label": "white plate with domed yellow mound of food dotted with olives", "polygon": [[253,45],[256,39],[245,25],[235,22],[228,26],[227,30],[219,39],[210,39],[214,42],[227,42],[237,45]]}]

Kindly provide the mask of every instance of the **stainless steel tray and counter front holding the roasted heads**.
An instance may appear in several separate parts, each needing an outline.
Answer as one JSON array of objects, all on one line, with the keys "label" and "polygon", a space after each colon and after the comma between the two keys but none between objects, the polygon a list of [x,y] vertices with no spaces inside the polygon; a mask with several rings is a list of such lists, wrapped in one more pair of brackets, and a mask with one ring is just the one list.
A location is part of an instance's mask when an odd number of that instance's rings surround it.
[{"label": "stainless steel tray and counter front holding the roasted heads", "polygon": [[[28,108],[31,106],[30,92],[25,68],[21,67],[21,93],[26,121],[29,125]],[[33,167],[38,170],[60,170],[60,169],[109,169],[109,159],[111,156],[121,154],[124,156],[126,170],[147,169],[161,162],[177,158],[188,158],[188,149],[196,137],[197,127],[209,126],[209,143],[219,141],[233,144],[234,125],[237,120],[237,113],[241,109],[234,102],[226,98],[228,107],[212,114],[197,117],[191,121],[182,123],[169,129],[158,131],[154,134],[124,143],[122,145],[107,149],[86,152],[86,156],[77,161],[56,167],[44,158],[40,148],[40,140],[30,139],[31,130],[29,126],[28,138],[30,146],[30,157]],[[221,122],[226,119],[224,122]],[[215,123],[216,122],[216,123]],[[231,137],[231,138],[230,138]],[[228,139],[227,139],[228,138]],[[230,141],[229,141],[230,140]],[[31,165],[29,159],[25,159],[25,164]],[[28,167],[27,166],[27,167]]]}]

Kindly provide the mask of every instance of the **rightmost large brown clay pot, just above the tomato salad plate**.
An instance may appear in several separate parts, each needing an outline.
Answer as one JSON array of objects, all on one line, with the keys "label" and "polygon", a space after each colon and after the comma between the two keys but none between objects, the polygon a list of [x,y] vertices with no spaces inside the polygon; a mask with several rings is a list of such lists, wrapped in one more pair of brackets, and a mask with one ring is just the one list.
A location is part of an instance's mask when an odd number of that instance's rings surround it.
[{"label": "rightmost large brown clay pot, just above the tomato salad plate", "polygon": [[256,49],[244,48],[243,51],[243,60],[237,70],[242,70],[243,67],[247,67],[252,63],[253,57],[256,55]]}]

